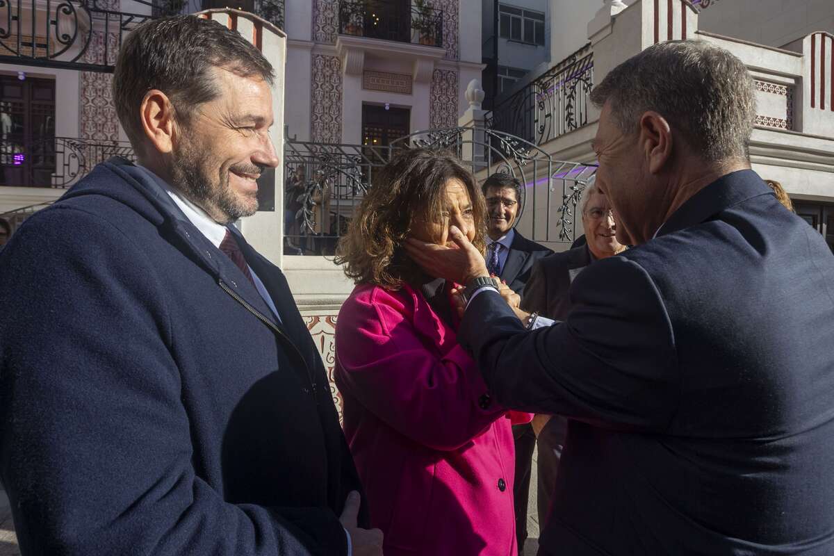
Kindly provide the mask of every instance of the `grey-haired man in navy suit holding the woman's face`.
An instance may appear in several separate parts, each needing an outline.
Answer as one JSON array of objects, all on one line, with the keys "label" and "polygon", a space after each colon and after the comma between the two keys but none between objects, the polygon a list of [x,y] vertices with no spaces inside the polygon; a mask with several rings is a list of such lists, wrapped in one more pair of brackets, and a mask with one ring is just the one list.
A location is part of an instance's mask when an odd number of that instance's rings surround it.
[{"label": "grey-haired man in navy suit holding the woman's face", "polygon": [[636,247],[575,278],[565,323],[526,330],[456,230],[409,247],[467,284],[458,340],[495,398],[569,418],[540,554],[834,553],[834,258],[750,169],[745,65],[660,43],[591,100]]}]

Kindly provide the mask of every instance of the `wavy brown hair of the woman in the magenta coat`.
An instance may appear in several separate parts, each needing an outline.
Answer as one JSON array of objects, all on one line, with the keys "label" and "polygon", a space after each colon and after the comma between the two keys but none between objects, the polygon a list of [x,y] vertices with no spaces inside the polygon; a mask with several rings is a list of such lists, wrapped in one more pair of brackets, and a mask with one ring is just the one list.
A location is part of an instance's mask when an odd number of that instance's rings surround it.
[{"label": "wavy brown hair of the woman in the magenta coat", "polygon": [[484,197],[475,177],[460,160],[430,148],[405,149],[379,172],[339,240],[336,263],[355,283],[399,289],[420,277],[420,268],[402,243],[416,220],[431,221],[443,212],[446,182],[459,179],[472,202],[475,247],[484,251]]}]

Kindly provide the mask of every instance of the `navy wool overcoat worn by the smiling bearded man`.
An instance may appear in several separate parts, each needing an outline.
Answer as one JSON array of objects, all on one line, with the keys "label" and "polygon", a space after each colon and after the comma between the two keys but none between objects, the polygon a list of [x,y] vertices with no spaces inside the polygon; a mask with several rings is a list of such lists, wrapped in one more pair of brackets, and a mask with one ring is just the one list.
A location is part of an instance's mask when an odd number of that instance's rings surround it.
[{"label": "navy wool overcoat worn by the smiling bearded man", "polygon": [[324,367],[284,275],[239,243],[281,323],[120,159],[0,252],[0,477],[23,553],[346,553],[359,479]]}]

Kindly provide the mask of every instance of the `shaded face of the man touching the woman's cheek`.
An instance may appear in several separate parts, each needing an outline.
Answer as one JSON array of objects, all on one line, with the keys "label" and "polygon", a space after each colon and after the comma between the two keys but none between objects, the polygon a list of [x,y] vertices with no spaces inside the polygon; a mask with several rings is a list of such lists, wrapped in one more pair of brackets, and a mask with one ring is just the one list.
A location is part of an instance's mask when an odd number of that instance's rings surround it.
[{"label": "shaded face of the man touching the woman's cheek", "polygon": [[637,134],[620,130],[611,115],[610,102],[605,103],[593,142],[600,164],[597,187],[617,213],[616,233],[622,244],[627,244],[629,238],[640,238],[642,218],[652,206],[651,174],[638,152],[637,139]]}]

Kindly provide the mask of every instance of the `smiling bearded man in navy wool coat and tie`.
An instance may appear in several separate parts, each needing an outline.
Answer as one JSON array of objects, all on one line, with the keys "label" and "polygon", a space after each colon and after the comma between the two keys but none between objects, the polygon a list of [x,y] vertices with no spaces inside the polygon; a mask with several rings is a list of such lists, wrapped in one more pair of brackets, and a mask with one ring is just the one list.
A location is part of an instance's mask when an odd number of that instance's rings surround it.
[{"label": "smiling bearded man in navy wool coat and tie", "polygon": [[113,78],[138,155],[0,252],[0,476],[23,554],[381,553],[284,274],[230,225],[279,160],[238,33],[145,23]]}]

